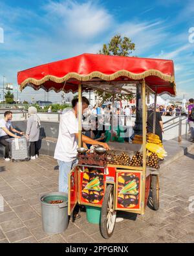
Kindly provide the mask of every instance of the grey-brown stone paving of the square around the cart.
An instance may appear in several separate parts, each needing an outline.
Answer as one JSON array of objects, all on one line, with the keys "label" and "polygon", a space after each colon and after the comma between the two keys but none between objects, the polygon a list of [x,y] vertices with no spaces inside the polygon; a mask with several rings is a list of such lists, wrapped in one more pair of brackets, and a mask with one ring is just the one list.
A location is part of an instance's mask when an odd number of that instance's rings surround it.
[{"label": "grey-brown stone paving of the square around the cart", "polygon": [[87,222],[85,213],[60,235],[44,233],[39,198],[58,191],[56,161],[47,156],[19,163],[1,160],[5,211],[0,212],[0,242],[194,242],[194,212],[188,208],[189,196],[194,196],[193,160],[194,150],[160,170],[160,209],[147,207],[137,218],[120,212],[124,221],[116,223],[109,240],[101,237],[98,225]]}]

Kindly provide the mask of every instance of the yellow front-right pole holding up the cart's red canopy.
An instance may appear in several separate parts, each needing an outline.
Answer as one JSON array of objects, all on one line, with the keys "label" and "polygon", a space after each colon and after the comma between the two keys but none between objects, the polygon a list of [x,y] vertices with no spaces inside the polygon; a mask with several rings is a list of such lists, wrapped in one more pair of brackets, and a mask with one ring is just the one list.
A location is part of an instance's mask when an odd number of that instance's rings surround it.
[{"label": "yellow front-right pole holding up the cart's red canopy", "polygon": [[143,171],[142,171],[142,215],[145,213],[145,194],[146,194],[146,82],[142,82],[142,126],[143,126]]}]

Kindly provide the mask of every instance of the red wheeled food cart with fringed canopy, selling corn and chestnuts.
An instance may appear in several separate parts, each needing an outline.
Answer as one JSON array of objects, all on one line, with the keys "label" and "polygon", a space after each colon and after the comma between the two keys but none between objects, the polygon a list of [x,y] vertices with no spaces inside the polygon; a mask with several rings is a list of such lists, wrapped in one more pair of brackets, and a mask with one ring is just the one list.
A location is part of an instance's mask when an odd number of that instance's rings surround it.
[{"label": "red wheeled food cart with fringed canopy, selling corn and chestnuts", "polygon": [[[31,86],[36,90],[78,92],[79,163],[69,174],[69,215],[77,203],[100,207],[100,231],[108,239],[114,231],[116,211],[144,215],[150,190],[153,209],[158,209],[158,170],[146,166],[146,97],[155,94],[156,106],[156,95],[175,95],[173,61],[81,54],[21,71],[17,78],[21,89]],[[111,152],[97,148],[87,153],[81,147],[82,91],[116,95],[131,93],[136,88],[142,95],[142,144],[110,142]]]}]

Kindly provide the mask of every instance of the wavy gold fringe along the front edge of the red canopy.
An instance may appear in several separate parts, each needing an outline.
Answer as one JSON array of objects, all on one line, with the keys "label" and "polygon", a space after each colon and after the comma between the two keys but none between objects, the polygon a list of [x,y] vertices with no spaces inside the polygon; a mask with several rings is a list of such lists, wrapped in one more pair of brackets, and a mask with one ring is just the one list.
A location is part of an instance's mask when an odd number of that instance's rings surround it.
[{"label": "wavy gold fringe along the front edge of the red canopy", "polygon": [[62,83],[62,82],[69,80],[70,78],[74,78],[80,82],[86,82],[86,81],[90,81],[92,78],[97,77],[97,78],[100,78],[105,81],[111,81],[111,80],[115,80],[116,78],[118,78],[120,76],[125,76],[125,77],[131,78],[133,80],[142,80],[142,79],[146,78],[147,76],[158,76],[159,78],[161,78],[164,81],[171,82],[171,83],[175,82],[174,76],[165,75],[164,73],[162,73],[156,69],[149,69],[149,71],[144,71],[143,73],[140,73],[140,74],[135,74],[135,73],[129,72],[127,70],[120,70],[120,71],[116,71],[114,74],[111,74],[111,75],[105,75],[105,74],[101,73],[100,71],[94,71],[94,72],[90,73],[89,75],[85,75],[85,76],[79,75],[78,73],[71,72],[63,77],[47,75],[47,76],[41,78],[40,80],[37,80],[35,78],[27,78],[25,81],[23,81],[21,83],[21,89],[23,89],[29,83],[39,86],[48,80],[50,80],[52,82],[56,82],[56,83]]}]

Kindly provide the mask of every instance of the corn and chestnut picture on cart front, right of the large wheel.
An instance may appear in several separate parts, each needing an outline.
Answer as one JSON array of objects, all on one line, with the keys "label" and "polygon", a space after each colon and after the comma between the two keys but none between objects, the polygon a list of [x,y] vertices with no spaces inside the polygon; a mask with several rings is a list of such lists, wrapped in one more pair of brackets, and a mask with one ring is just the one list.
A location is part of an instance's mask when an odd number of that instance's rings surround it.
[{"label": "corn and chestnut picture on cart front, right of the large wheel", "polygon": [[133,208],[139,201],[139,178],[135,174],[125,173],[118,177],[118,204]]}]

